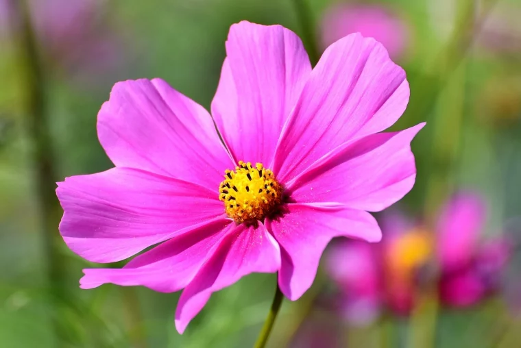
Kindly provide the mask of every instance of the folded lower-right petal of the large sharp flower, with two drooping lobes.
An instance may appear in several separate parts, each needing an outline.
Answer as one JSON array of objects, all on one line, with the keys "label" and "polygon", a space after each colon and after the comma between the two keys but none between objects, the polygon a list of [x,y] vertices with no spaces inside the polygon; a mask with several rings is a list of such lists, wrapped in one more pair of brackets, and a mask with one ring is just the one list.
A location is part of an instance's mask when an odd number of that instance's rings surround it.
[{"label": "folded lower-right petal of the large sharp flower, with two drooping lobes", "polygon": [[371,214],[343,206],[288,204],[284,216],[267,221],[267,228],[282,253],[278,284],[291,300],[298,299],[311,286],[320,256],[333,237],[369,242],[381,239],[380,228]]}]

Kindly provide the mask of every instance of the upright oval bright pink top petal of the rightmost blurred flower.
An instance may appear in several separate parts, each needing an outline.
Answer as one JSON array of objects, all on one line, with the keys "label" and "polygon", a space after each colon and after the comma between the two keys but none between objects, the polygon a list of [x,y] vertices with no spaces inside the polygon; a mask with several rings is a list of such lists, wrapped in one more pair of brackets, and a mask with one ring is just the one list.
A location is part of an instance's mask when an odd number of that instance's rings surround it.
[{"label": "upright oval bright pink top petal of the rightmost blurred flower", "polygon": [[450,199],[437,226],[437,253],[441,266],[456,269],[471,262],[484,224],[483,199],[471,192],[460,192]]}]

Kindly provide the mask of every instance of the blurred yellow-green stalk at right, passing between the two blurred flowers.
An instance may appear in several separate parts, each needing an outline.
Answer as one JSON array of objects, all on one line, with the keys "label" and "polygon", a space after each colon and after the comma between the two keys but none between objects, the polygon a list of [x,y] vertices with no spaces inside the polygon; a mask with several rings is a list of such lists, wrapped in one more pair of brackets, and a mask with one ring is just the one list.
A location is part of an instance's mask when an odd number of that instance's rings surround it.
[{"label": "blurred yellow-green stalk at right, passing between the two blurred flowers", "polygon": [[[453,173],[459,157],[461,125],[465,101],[465,55],[472,44],[476,29],[476,3],[459,1],[455,29],[437,66],[438,80],[435,98],[439,103],[430,125],[433,127],[431,166],[424,200],[424,216],[430,231],[435,230],[437,212],[454,190]],[[462,62],[463,61],[463,62]],[[441,88],[446,84],[445,88]],[[434,104],[432,105],[434,106]],[[431,260],[435,264],[435,260]],[[417,306],[409,321],[407,345],[411,348],[435,347],[439,310],[437,276],[429,279],[417,293]]]}]

